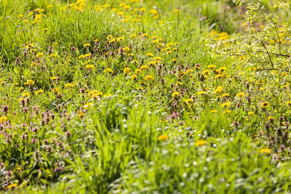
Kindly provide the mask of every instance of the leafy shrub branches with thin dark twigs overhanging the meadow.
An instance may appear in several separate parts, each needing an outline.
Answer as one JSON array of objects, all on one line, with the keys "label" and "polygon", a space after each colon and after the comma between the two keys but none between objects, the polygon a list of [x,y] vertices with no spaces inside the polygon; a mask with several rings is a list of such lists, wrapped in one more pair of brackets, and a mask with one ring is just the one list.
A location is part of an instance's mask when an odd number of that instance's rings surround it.
[{"label": "leafy shrub branches with thin dark twigs overhanging the meadow", "polygon": [[[239,57],[237,65],[242,67],[289,72],[291,57],[289,22],[281,23],[279,26],[279,16],[265,10],[259,3],[251,3],[247,0],[234,0],[234,2],[245,5],[248,9],[245,14],[247,33],[234,34],[224,41],[211,40],[211,44],[214,45],[210,47],[215,48],[213,54]],[[290,14],[290,3],[279,3],[275,7],[286,15]],[[258,26],[260,23],[264,25]]]}]

